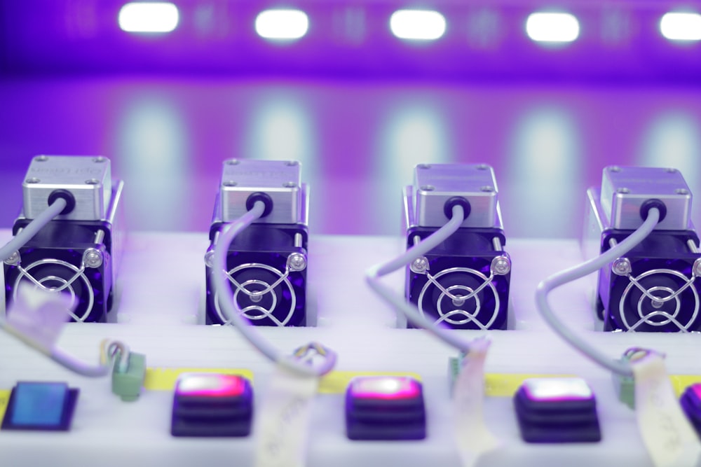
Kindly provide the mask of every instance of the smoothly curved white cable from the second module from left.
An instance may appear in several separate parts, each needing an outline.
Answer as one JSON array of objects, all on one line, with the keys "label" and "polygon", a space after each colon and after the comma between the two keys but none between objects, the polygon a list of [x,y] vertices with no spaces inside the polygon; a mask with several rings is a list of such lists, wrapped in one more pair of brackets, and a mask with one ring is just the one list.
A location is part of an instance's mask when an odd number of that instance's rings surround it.
[{"label": "smoothly curved white cable from the second module from left", "polygon": [[[336,363],[336,354],[333,351],[328,351],[327,358],[318,368],[313,368],[283,354],[275,349],[270,342],[267,342],[259,333],[254,330],[254,326],[250,326],[240,315],[241,309],[238,303],[233,298],[233,291],[229,286],[229,281],[226,279],[226,253],[229,252],[231,242],[236,238],[242,230],[251,225],[254,221],[263,215],[265,204],[262,201],[257,201],[253,204],[252,209],[240,218],[236,219],[222,229],[222,234],[219,236],[219,242],[215,246],[215,253],[212,257],[212,288],[215,296],[219,297],[219,307],[226,318],[226,321],[232,323],[238,328],[239,332],[250,342],[253,347],[258,349],[261,354],[275,363],[279,363],[304,376],[325,375],[332,370]],[[328,349],[327,349],[328,350]]]}]

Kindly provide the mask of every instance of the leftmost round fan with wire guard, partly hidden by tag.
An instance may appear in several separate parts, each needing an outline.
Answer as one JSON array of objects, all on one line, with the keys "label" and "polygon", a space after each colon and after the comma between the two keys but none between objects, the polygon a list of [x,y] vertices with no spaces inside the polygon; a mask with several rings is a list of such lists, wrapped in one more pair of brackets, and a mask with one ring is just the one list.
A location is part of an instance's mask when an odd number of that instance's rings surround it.
[{"label": "leftmost round fan with wire guard, partly hidden by tag", "polygon": [[44,258],[22,267],[13,286],[13,300],[23,277],[32,281],[35,288],[40,287],[49,292],[67,292],[71,298],[70,308],[66,311],[74,321],[83,322],[93,311],[95,293],[86,275],[71,263],[55,258]]}]

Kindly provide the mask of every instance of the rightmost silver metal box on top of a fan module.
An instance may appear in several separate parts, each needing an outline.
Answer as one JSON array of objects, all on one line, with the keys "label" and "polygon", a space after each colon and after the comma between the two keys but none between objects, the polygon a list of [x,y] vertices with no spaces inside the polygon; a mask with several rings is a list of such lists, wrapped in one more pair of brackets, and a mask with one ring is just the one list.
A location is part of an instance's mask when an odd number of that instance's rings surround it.
[{"label": "rightmost silver metal box on top of a fan module", "polygon": [[657,230],[689,228],[691,190],[679,170],[615,165],[604,169],[600,204],[611,228],[639,228],[644,221],[640,207],[651,199],[660,200],[667,207],[667,215]]}]

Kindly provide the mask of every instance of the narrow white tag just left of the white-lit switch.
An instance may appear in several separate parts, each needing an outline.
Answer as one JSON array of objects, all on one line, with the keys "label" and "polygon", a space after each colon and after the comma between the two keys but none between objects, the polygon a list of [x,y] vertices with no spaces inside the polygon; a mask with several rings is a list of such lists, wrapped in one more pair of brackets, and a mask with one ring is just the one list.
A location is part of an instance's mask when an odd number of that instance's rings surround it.
[{"label": "narrow white tag just left of the white-lit switch", "polygon": [[453,389],[454,433],[463,467],[474,466],[479,457],[499,442],[484,423],[484,359],[489,340],[470,343]]}]

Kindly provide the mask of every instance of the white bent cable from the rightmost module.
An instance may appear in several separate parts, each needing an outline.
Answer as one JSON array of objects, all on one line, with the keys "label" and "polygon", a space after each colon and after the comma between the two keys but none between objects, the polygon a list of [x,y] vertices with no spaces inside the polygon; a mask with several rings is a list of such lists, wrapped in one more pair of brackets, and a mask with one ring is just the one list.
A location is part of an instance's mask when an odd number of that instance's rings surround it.
[{"label": "white bent cable from the rightmost module", "polygon": [[660,211],[657,208],[651,208],[648,211],[648,216],[643,225],[641,225],[618,245],[614,246],[605,253],[601,253],[601,255],[597,256],[597,258],[592,258],[585,261],[585,263],[553,274],[547,279],[541,281],[540,284],[538,284],[538,289],[536,291],[536,305],[538,306],[538,311],[540,311],[540,314],[543,316],[543,319],[545,319],[545,322],[547,322],[550,327],[560,335],[560,337],[562,337],[566,342],[569,342],[569,344],[578,349],[582,354],[587,356],[587,358],[590,358],[590,360],[594,361],[595,363],[599,363],[599,365],[603,366],[604,368],[608,368],[608,370],[624,376],[633,375],[629,363],[613,360],[611,357],[604,354],[604,352],[597,350],[594,346],[583,340],[577,335],[577,333],[573,332],[573,330],[565,326],[562,321],[560,321],[552,312],[552,309],[547,302],[547,294],[554,288],[585,277],[588,274],[592,274],[592,272],[597,272],[602,267],[608,267],[609,263],[624,256],[626,253],[640,244],[640,242],[642,242],[655,229],[658,222],[660,222]]}]

